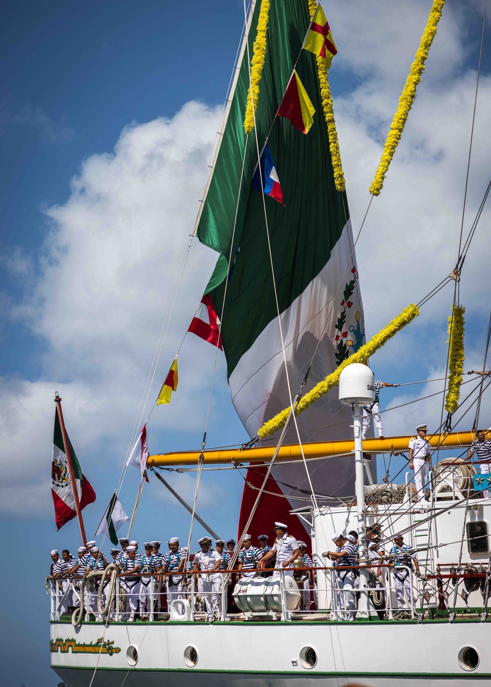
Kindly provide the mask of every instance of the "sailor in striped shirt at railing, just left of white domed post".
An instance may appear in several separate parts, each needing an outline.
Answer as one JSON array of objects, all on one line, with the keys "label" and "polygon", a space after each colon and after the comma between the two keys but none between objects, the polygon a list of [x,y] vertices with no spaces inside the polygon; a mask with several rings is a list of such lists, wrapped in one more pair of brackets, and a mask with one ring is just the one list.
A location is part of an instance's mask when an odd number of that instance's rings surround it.
[{"label": "sailor in striped shirt at railing, just left of white domed post", "polygon": [[326,551],[323,556],[334,561],[333,567],[346,568],[336,571],[336,620],[354,620],[356,598],[351,590],[355,589],[356,571],[349,570],[349,567],[356,564],[356,546],[340,532],[334,534],[332,541],[336,544],[336,551]]}]

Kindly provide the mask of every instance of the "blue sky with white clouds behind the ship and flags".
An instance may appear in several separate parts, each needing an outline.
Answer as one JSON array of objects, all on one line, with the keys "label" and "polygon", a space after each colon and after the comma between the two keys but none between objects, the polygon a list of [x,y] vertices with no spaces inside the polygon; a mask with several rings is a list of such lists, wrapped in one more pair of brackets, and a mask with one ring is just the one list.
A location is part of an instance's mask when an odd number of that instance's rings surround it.
[{"label": "blue sky with white clouds behind the ship and flags", "polygon": [[[444,10],[428,67],[386,187],[358,245],[367,333],[419,300],[452,269],[465,180],[479,47],[480,2]],[[325,8],[327,11],[327,8]],[[49,485],[54,392],[98,500],[85,510],[93,532],[118,481],[226,94],[241,33],[239,1],[143,0],[11,3],[0,46],[0,532],[3,570],[19,561],[19,598],[4,606],[6,687],[50,687],[49,551],[76,548],[76,523],[56,533]],[[464,11],[465,10],[465,11]],[[331,70],[336,119],[355,230],[384,133],[426,21],[428,3],[333,3],[340,52]],[[489,32],[488,45],[489,45]],[[489,179],[490,53],[485,52],[465,227]],[[155,155],[155,159],[153,159]],[[482,361],[490,289],[489,210],[461,282],[468,308],[466,369]],[[215,261],[193,244],[155,385],[186,330]],[[135,277],[138,275],[138,278]],[[373,360],[386,381],[441,376],[450,289]],[[194,339],[194,340],[190,340]],[[198,448],[214,351],[188,337],[179,354],[181,395],[149,423],[151,451]],[[219,358],[208,445],[237,443]],[[428,387],[431,387],[428,390]],[[435,385],[384,391],[396,405]],[[182,389],[182,390],[181,390]],[[415,390],[416,389],[416,390]],[[153,392],[152,392],[153,394]],[[393,394],[393,395],[391,395]],[[439,403],[439,402],[438,402]],[[483,413],[489,405],[483,406]],[[437,422],[430,401],[387,414],[386,433]],[[487,426],[487,425],[486,425]],[[194,475],[168,480],[185,498]],[[243,480],[207,473],[199,512],[230,536]],[[131,510],[138,474],[121,499]],[[135,537],[188,532],[188,516],[153,479]],[[232,525],[230,523],[233,523]],[[201,528],[195,528],[195,538]],[[26,560],[34,561],[25,570]],[[15,583],[17,585],[17,582]],[[26,660],[28,657],[28,660]]]}]

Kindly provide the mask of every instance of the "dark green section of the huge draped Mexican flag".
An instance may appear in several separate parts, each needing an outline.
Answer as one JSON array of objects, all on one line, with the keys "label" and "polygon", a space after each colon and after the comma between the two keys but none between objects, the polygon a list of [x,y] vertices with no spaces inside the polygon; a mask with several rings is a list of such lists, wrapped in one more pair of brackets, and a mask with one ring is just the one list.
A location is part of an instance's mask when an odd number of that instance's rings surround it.
[{"label": "dark green section of the huge draped Mexican flag", "polygon": [[[254,10],[248,38],[251,57],[260,4],[258,2]],[[268,47],[259,87],[256,124],[260,149],[270,132],[268,144],[286,206],[282,207],[267,196],[264,198],[280,312],[290,307],[327,264],[349,218],[346,195],[336,191],[334,186],[316,58],[301,50],[309,23],[307,0],[271,1]],[[299,54],[296,71],[316,109],[314,124],[304,135],[288,120],[277,117],[270,131]],[[240,246],[230,282],[221,282],[210,292],[220,314],[223,290],[227,284],[221,335],[229,375],[276,317],[263,194],[250,188],[257,164],[255,133],[253,131],[246,142],[243,131],[248,85],[246,53],[197,231],[201,243],[225,256],[227,265],[230,250],[233,260]],[[244,179],[234,245],[231,247],[246,146]],[[220,276],[223,278],[221,267],[219,265],[215,273],[215,283]],[[207,291],[210,288],[211,284]]]}]

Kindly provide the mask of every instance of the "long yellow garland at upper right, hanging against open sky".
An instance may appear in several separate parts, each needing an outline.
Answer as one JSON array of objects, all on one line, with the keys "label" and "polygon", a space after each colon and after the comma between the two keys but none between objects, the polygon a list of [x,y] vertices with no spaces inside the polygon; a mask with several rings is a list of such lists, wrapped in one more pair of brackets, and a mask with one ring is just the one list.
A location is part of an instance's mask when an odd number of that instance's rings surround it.
[{"label": "long yellow garland at upper right, hanging against open sky", "polygon": [[384,185],[384,179],[391,160],[395,153],[395,148],[400,141],[402,135],[402,130],[406,124],[408,118],[409,110],[413,106],[414,98],[416,95],[416,87],[421,80],[424,63],[428,57],[428,51],[433,43],[433,38],[437,32],[437,24],[441,17],[441,10],[443,10],[445,0],[433,0],[433,7],[430,10],[430,15],[428,16],[428,23],[419,43],[419,49],[416,53],[415,60],[411,65],[411,71],[406,79],[406,84],[399,98],[399,105],[397,106],[397,112],[394,115],[393,122],[389,134],[387,135],[387,140],[384,146],[384,152],[380,159],[380,164],[378,170],[375,174],[375,179],[373,179],[370,186],[370,193],[378,196]]}]

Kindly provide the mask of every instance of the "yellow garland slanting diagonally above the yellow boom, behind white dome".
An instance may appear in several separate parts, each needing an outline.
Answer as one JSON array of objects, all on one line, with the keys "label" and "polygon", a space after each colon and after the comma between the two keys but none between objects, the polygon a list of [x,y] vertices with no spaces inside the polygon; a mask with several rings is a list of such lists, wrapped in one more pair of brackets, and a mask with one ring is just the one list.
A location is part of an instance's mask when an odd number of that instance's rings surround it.
[{"label": "yellow garland slanting diagonally above the yellow boom, behind white dome", "polygon": [[[324,394],[327,394],[332,387],[336,386],[339,382],[339,376],[342,370],[344,370],[347,365],[350,365],[351,363],[366,362],[375,353],[375,351],[377,351],[379,348],[382,348],[386,341],[389,341],[389,339],[391,339],[400,329],[405,327],[406,324],[412,322],[417,315],[419,315],[419,308],[414,303],[409,305],[407,308],[404,308],[402,313],[397,315],[392,322],[389,322],[389,324],[381,329],[378,334],[375,334],[375,336],[371,337],[370,341],[364,343],[363,346],[360,346],[356,353],[353,353],[353,355],[350,355],[349,358],[343,360],[334,372],[328,374],[323,381],[320,381],[312,390],[305,394],[305,396],[301,398],[300,403],[298,403],[296,415],[303,413],[303,411],[307,410],[312,403],[318,401],[320,396],[324,396]],[[281,429],[281,427],[283,427],[287,421],[287,417],[290,414],[290,409],[291,406],[285,408],[281,411],[281,413],[274,416],[272,420],[268,420],[267,423],[264,423],[264,425],[257,432],[258,436],[261,439],[265,439],[267,436],[271,436],[272,433],[274,433],[277,429]]]}]

